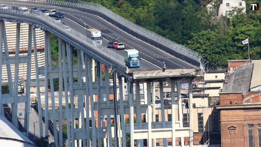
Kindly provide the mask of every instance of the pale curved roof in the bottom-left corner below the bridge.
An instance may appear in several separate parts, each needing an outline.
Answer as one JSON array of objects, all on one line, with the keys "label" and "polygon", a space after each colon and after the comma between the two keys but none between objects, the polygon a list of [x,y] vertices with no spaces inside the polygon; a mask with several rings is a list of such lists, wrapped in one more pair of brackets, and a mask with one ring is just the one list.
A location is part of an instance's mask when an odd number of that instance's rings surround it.
[{"label": "pale curved roof in the bottom-left corner below the bridge", "polygon": [[10,138],[35,145],[5,117],[0,116],[0,138]]}]

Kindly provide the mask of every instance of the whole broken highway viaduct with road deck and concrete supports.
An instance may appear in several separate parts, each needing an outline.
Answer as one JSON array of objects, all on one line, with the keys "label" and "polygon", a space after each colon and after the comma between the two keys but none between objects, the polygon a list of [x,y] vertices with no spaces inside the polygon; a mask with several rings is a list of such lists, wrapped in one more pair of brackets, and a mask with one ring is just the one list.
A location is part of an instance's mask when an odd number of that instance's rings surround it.
[{"label": "whole broken highway viaduct with road deck and concrete supports", "polygon": [[[15,1],[17,2],[17,1]],[[53,1],[52,1],[53,2]],[[36,63],[36,77],[39,77],[39,74],[45,75],[45,101],[41,102],[41,95],[39,90],[39,79],[36,78],[37,83],[37,102],[38,105],[44,106],[42,111],[39,108],[39,134],[43,136],[42,128],[42,117],[45,117],[45,134],[48,132],[48,120],[53,120],[56,122],[59,120],[59,126],[62,126],[62,121],[66,119],[66,128],[67,128],[67,139],[69,141],[68,146],[77,146],[77,141],[79,146],[95,146],[98,144],[100,147],[103,140],[103,145],[112,146],[110,139],[106,142],[107,138],[114,138],[114,144],[123,147],[126,147],[126,133],[130,133],[130,146],[134,146],[134,139],[137,140],[137,146],[144,146],[143,139],[147,139],[148,146],[151,146],[151,140],[153,139],[155,146],[156,138],[164,138],[164,146],[167,146],[167,138],[172,138],[172,142],[176,142],[176,134],[179,134],[181,137],[181,145],[184,145],[184,137],[190,138],[190,145],[193,146],[193,123],[189,122],[189,127],[183,127],[182,121],[182,109],[181,109],[181,96],[180,88],[177,88],[178,95],[178,120],[173,119],[172,121],[165,121],[165,111],[164,107],[161,108],[161,117],[162,122],[156,122],[154,117],[154,104],[151,104],[151,101],[155,101],[154,93],[154,84],[155,82],[160,85],[160,99],[161,105],[164,105],[163,98],[163,82],[166,80],[171,81],[171,107],[172,114],[171,118],[175,117],[175,87],[180,87],[180,81],[186,80],[189,85],[189,121],[192,120],[192,79],[198,73],[198,66],[201,59],[198,59],[199,56],[194,56],[190,58],[185,56],[186,53],[192,53],[191,50],[185,50],[180,45],[184,53],[179,52],[174,53],[172,50],[171,53],[167,53],[166,47],[163,47],[164,51],[146,43],[130,34],[124,32],[121,29],[118,29],[116,26],[110,24],[109,22],[97,17],[95,15],[87,14],[85,12],[80,12],[77,10],[68,10],[68,8],[58,8],[55,5],[49,6],[48,4],[42,3],[26,3],[20,2],[19,5],[25,6],[35,6],[48,9],[58,9],[60,11],[66,12],[68,14],[74,15],[75,17],[84,21],[88,26],[100,29],[103,33],[113,36],[114,38],[119,38],[120,42],[123,42],[137,50],[141,53],[144,53],[147,56],[150,56],[152,60],[159,60],[160,62],[165,62],[167,69],[162,69],[162,67],[157,67],[148,61],[144,61],[142,69],[137,68],[131,69],[132,71],[127,70],[128,68],[124,64],[124,58],[121,56],[121,51],[115,51],[107,49],[104,46],[98,45],[94,46],[92,40],[88,39],[83,35],[85,28],[76,25],[75,22],[72,22],[67,19],[63,19],[64,23],[68,26],[71,26],[70,31],[65,29],[65,26],[62,23],[55,23],[53,18],[45,16],[44,14],[31,14],[31,13],[21,13],[12,10],[0,11],[0,41],[4,42],[4,46],[0,44],[0,49],[8,50],[6,47],[6,33],[5,33],[5,23],[4,21],[16,22],[17,23],[17,32],[16,39],[19,40],[20,32],[20,23],[29,24],[29,42],[33,44],[28,44],[28,48],[34,50],[36,55],[36,45],[35,45],[35,29],[41,28],[45,31],[45,66],[39,68],[37,60],[34,59]],[[64,3],[64,2],[63,2]],[[59,4],[57,4],[59,5]],[[70,4],[71,6],[76,6],[76,4]],[[62,5],[59,5],[62,6]],[[68,5],[67,5],[68,6]],[[66,6],[65,6],[66,7]],[[78,7],[77,7],[78,8]],[[99,26],[100,25],[100,26]],[[82,32],[79,33],[79,32]],[[52,56],[51,56],[51,46],[50,46],[50,33],[58,36],[59,40],[59,65],[58,67],[53,67],[52,65]],[[141,37],[142,38],[142,37]],[[150,36],[147,36],[147,40],[150,41]],[[124,40],[125,39],[125,40]],[[160,39],[160,38],[159,38]],[[164,40],[164,39],[163,39]],[[157,42],[157,41],[156,41]],[[151,42],[155,46],[162,46],[162,42],[159,42],[158,45],[155,42]],[[171,43],[168,43],[171,44]],[[106,46],[106,45],[105,45]],[[168,45],[166,45],[168,46]],[[73,47],[77,49],[77,65],[73,65],[72,61],[72,51]],[[16,49],[19,48],[19,43],[16,44]],[[178,59],[173,56],[173,54],[179,56],[186,61]],[[14,75],[14,87],[9,87],[10,94],[0,93],[0,102],[2,104],[10,104],[12,106],[12,120],[13,124],[17,126],[17,105],[18,103],[25,102],[25,128],[26,133],[29,133],[29,104],[30,104],[30,90],[27,91],[25,96],[17,95],[17,83],[18,83],[18,66],[22,63],[28,64],[27,70],[27,80],[30,81],[30,66],[32,60],[32,50],[28,50],[27,56],[19,56],[19,50],[15,50],[15,57],[9,58],[8,52],[4,54],[0,52],[0,66],[6,65],[8,70],[8,84],[12,85],[12,74],[10,72],[10,65],[15,64],[15,75]],[[196,53],[194,54],[196,55]],[[94,70],[94,61],[96,61],[96,69]],[[192,61],[195,61],[192,62]],[[190,62],[190,63],[188,63]],[[103,63],[105,65],[104,79],[101,76],[102,72],[100,71],[100,65]],[[195,65],[194,65],[194,64]],[[112,67],[113,79],[109,78],[108,68]],[[146,69],[145,69],[146,68]],[[147,69],[148,68],[148,69]],[[136,70],[136,71],[134,71]],[[0,70],[0,78],[2,78],[2,70]],[[55,99],[54,99],[54,79],[59,79],[59,109],[55,108]],[[77,78],[75,81],[74,78]],[[67,80],[68,79],[68,80]],[[110,91],[110,80],[113,80],[113,92]],[[50,82],[49,82],[50,81]],[[96,82],[96,84],[93,84]],[[49,83],[49,84],[48,84]],[[2,80],[0,81],[0,85]],[[64,89],[63,89],[64,84]],[[135,94],[134,94],[134,84]],[[141,103],[140,97],[140,84],[143,84],[143,93],[145,98],[145,104]],[[105,87],[105,91],[101,91],[101,87]],[[30,82],[26,83],[26,87],[30,87]],[[48,89],[50,88],[51,96],[48,96]],[[95,92],[94,92],[95,89]],[[65,93],[66,107],[62,109],[62,91]],[[97,92],[96,92],[97,91]],[[127,91],[128,98],[124,99],[124,92]],[[113,100],[110,99],[110,95],[113,94]],[[134,95],[136,95],[134,99]],[[106,97],[105,97],[106,96]],[[73,106],[74,99],[77,97],[78,107],[69,108],[69,102]],[[48,104],[49,99],[51,99],[51,104]],[[2,105],[1,104],[1,105]],[[0,105],[0,115],[2,115],[2,108]],[[51,109],[47,109],[51,108]],[[88,113],[89,110],[89,113]],[[137,116],[137,123],[134,125],[134,114]],[[141,119],[142,115],[146,115],[146,122]],[[153,114],[153,116],[151,115]],[[107,120],[111,120],[111,115],[114,115],[114,127],[110,123],[105,123],[105,117]],[[129,115],[129,124],[125,124],[124,117]],[[116,117],[117,116],[117,117]],[[90,118],[91,127],[90,127]],[[96,121],[100,120],[102,121]],[[75,119],[78,119],[78,127],[71,124],[75,124]],[[71,121],[71,122],[69,122]],[[107,126],[106,126],[106,125]],[[121,124],[121,127],[120,127]],[[105,127],[106,126],[106,127]],[[56,126],[53,125],[53,130],[56,130]],[[158,136],[161,134],[162,136]],[[59,137],[59,142],[58,142]],[[56,146],[62,146],[62,131],[54,132],[54,141]],[[122,139],[122,140],[121,140]],[[96,142],[98,140],[98,142]]]}]

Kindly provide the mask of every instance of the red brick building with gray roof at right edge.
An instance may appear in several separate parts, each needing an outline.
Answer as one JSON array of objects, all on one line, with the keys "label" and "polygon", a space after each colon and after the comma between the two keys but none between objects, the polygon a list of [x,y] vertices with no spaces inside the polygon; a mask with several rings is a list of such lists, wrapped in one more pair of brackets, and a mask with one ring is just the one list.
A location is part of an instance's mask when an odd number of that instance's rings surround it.
[{"label": "red brick building with gray roof at right edge", "polygon": [[220,92],[223,147],[261,146],[261,60],[229,63],[229,74]]}]

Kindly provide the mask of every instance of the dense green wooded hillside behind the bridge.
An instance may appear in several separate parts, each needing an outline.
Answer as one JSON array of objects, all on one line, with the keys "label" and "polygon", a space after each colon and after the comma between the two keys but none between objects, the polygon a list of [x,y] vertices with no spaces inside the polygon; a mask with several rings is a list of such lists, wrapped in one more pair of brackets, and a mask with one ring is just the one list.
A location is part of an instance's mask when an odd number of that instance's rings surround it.
[{"label": "dense green wooded hillside behind the bridge", "polygon": [[[205,57],[212,69],[224,69],[227,60],[248,59],[247,44],[242,40],[249,36],[250,58],[261,58],[261,13],[250,10],[246,2],[246,14],[235,9],[217,19],[216,5],[208,13],[205,5],[210,0],[86,0],[101,4],[124,18],[154,31],[168,39],[185,45]],[[234,15],[234,12],[237,12]]]}]

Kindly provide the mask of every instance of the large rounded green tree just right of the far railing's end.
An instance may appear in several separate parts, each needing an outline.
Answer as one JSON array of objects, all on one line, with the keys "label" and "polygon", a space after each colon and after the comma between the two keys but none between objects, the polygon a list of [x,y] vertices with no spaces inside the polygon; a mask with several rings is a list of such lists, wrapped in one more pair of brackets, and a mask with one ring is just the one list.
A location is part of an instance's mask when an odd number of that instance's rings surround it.
[{"label": "large rounded green tree just right of the far railing's end", "polygon": [[236,49],[232,45],[229,36],[211,30],[192,34],[192,39],[188,41],[188,47],[205,57],[212,69],[224,68],[227,66],[227,60],[233,59]]}]

